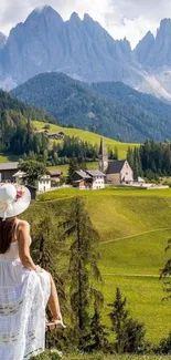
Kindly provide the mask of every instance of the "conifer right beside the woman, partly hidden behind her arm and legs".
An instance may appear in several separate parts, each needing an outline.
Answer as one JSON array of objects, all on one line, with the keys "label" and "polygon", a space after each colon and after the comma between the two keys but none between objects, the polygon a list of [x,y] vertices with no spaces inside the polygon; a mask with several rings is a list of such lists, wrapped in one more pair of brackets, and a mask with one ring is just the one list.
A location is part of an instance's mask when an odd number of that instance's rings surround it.
[{"label": "conifer right beside the woman, partly hidden behind her arm and legs", "polygon": [[[30,219],[30,223],[33,225],[33,219]],[[56,264],[60,263],[60,256],[62,253],[62,244],[58,239],[58,234],[52,222],[51,215],[45,215],[40,220],[39,224],[32,226],[33,233],[33,258],[35,264],[40,265],[44,270],[50,272],[53,276],[53,279],[56,285],[57,295],[60,298],[60,307],[62,313],[66,313],[66,296],[65,296],[65,284],[62,279],[62,276],[58,275]],[[57,254],[56,249],[60,247],[61,251]],[[51,317],[51,313],[47,309],[47,317]],[[46,331],[46,348],[57,348],[63,349],[67,346],[68,340],[65,337],[65,331],[60,330],[49,330]]]}]

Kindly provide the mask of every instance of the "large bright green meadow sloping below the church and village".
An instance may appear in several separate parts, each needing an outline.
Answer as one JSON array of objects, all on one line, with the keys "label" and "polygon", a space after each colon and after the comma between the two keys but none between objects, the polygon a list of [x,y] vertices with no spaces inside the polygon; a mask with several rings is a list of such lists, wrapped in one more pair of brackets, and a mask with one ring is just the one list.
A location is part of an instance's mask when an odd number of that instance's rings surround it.
[{"label": "large bright green meadow sloping below the church and village", "polygon": [[64,199],[76,195],[83,196],[101,237],[105,322],[109,322],[107,304],[118,286],[131,316],[145,322],[147,339],[158,343],[171,330],[171,301],[162,301],[165,294],[159,280],[160,269],[171,256],[164,251],[171,237],[171,189],[60,189],[40,199],[50,200],[43,203],[50,207],[64,206]]}]

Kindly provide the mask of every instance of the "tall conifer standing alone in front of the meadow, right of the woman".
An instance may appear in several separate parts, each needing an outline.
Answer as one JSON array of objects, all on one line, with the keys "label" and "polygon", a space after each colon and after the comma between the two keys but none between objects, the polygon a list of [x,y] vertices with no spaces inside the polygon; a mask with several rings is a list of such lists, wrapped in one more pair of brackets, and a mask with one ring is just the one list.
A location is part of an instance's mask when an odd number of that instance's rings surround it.
[{"label": "tall conifer standing alone in front of the meadow, right of the woman", "polygon": [[94,229],[89,215],[79,197],[72,202],[68,220],[61,226],[64,228],[63,236],[72,238],[68,280],[73,340],[79,349],[85,350],[90,340],[89,306],[92,297],[96,301],[103,301],[101,294],[95,290],[93,286],[93,279],[94,281],[100,280],[97,266],[99,235]]}]

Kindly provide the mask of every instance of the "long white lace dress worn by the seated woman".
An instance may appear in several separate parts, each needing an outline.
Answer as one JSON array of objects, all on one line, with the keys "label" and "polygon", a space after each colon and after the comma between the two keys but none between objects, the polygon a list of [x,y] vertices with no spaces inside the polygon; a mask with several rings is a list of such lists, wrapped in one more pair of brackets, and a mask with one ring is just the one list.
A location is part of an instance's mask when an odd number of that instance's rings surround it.
[{"label": "long white lace dress worn by the seated woman", "polygon": [[49,274],[25,269],[18,241],[11,243],[0,255],[0,360],[28,360],[44,350],[50,291]]}]

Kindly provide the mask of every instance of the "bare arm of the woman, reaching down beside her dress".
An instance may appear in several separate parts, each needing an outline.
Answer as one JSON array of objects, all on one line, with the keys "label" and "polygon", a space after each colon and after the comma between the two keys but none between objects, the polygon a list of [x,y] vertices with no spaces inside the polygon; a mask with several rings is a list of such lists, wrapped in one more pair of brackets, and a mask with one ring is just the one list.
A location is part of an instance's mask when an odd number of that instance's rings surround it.
[{"label": "bare arm of the woman, reaching down beside her dress", "polygon": [[20,222],[18,226],[19,256],[22,265],[29,270],[36,271],[36,265],[30,255],[30,225],[28,222]]}]

